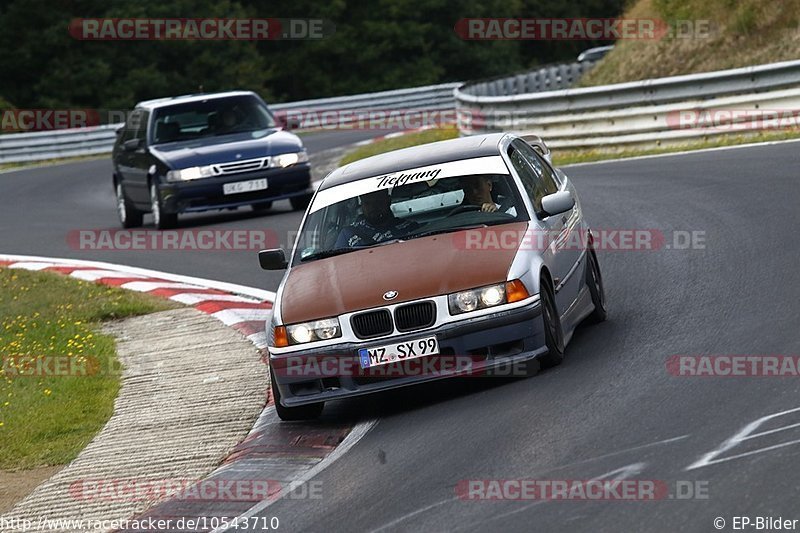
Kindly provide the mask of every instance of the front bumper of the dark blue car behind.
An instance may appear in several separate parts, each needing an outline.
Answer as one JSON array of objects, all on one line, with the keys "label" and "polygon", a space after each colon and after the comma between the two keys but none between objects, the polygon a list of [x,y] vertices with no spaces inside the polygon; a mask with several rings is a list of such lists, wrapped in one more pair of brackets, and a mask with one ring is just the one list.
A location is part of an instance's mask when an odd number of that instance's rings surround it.
[{"label": "front bumper of the dark blue car behind", "polygon": [[[223,185],[237,181],[267,179],[267,188],[239,194],[224,194]],[[242,207],[259,202],[284,200],[313,194],[311,165],[300,163],[287,168],[269,168],[255,172],[229,174],[185,182],[161,182],[158,185],[165,213],[189,213],[211,209]]]}]

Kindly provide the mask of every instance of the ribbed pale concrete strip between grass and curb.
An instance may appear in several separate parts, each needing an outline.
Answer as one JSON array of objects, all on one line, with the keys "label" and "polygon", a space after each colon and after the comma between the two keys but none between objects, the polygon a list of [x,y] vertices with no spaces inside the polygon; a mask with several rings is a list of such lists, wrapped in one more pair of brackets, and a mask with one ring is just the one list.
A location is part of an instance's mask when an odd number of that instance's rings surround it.
[{"label": "ribbed pale concrete strip between grass and curb", "polygon": [[183,308],[104,329],[124,365],[114,414],[71,464],[0,517],[0,530],[20,531],[21,519],[40,531],[85,531],[45,521],[131,518],[166,499],[167,487],[214,470],[266,403],[258,350],[207,314]]}]

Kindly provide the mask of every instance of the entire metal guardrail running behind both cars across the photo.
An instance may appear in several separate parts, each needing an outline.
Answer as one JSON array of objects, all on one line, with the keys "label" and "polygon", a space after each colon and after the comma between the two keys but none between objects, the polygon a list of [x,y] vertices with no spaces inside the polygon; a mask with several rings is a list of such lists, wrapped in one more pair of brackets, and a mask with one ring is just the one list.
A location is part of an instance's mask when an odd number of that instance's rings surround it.
[{"label": "entire metal guardrail running behind both cars across the photo", "polygon": [[[587,67],[591,64],[554,65],[463,85],[446,83],[270,107],[278,115],[298,117],[301,129],[313,127],[307,118],[325,111],[353,115],[370,110],[454,111],[463,134],[518,130],[543,137],[553,148],[673,142],[730,131],[705,121],[696,127],[676,126],[680,113],[687,110],[800,109],[800,61],[549,90],[574,84]],[[737,120],[746,119],[732,119]],[[0,163],[107,153],[119,126],[0,135]]]}]

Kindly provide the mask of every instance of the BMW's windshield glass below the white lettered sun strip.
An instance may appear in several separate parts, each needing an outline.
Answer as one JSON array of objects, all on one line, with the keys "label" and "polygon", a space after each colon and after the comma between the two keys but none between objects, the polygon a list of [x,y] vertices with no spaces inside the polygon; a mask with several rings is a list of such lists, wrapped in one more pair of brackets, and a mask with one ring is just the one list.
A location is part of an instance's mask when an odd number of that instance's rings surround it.
[{"label": "BMW's windshield glass below the white lettered sun strip", "polygon": [[321,209],[312,206],[300,232],[295,263],[398,240],[527,220],[508,174],[453,176],[377,191],[362,187],[361,192]]}]

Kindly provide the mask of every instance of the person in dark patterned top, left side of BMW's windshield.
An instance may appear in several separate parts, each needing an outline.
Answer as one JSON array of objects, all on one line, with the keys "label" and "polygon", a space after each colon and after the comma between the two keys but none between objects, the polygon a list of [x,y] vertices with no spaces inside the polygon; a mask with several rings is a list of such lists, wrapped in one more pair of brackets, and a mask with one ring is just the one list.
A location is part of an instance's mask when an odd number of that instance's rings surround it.
[{"label": "person in dark patterned top, left side of BMW's windshield", "polygon": [[383,241],[398,239],[419,227],[413,220],[403,220],[392,213],[392,199],[386,189],[364,194],[361,215],[344,228],[336,239],[336,248],[371,246]]}]

